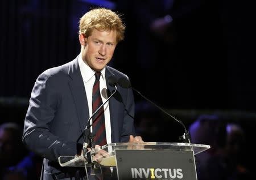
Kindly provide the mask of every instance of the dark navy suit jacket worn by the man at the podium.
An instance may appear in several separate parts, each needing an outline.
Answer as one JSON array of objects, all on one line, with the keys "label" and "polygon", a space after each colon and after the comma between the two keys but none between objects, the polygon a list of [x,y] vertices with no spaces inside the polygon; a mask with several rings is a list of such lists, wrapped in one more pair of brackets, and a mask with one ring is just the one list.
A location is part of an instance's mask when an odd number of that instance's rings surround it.
[{"label": "dark navy suit jacket worn by the man at the podium", "polygon": [[[106,79],[113,75],[127,78],[122,72],[106,66]],[[114,91],[108,83],[107,87],[110,92]],[[133,92],[119,86],[117,89],[109,100],[112,143],[128,142],[129,135],[134,134]],[[22,140],[31,151],[44,157],[43,179],[76,174],[77,169],[63,168],[57,159],[81,152],[84,139],[79,137],[88,119],[88,102],[78,57],[38,76],[24,120]]]}]

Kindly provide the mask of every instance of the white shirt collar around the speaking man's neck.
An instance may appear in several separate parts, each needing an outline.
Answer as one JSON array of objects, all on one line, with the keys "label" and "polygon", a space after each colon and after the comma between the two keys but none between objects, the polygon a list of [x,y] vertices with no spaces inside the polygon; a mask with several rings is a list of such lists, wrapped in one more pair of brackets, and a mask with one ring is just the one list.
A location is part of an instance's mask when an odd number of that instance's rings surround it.
[{"label": "white shirt collar around the speaking man's neck", "polygon": [[[89,82],[90,79],[93,78],[96,71],[92,70],[92,68],[90,68],[90,66],[88,66],[88,64],[82,60],[81,54],[79,54],[78,61],[79,61],[79,67],[80,67],[82,79],[84,79],[84,81],[87,83]],[[105,71],[106,71],[106,67],[104,67],[101,70],[101,78],[103,78],[104,80],[105,80]]]}]

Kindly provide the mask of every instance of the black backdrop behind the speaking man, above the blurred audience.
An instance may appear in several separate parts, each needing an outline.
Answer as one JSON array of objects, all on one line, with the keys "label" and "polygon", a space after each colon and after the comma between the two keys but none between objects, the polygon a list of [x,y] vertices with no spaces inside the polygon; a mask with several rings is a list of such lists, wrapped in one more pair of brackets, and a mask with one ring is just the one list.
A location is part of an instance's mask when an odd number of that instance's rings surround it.
[{"label": "black backdrop behind the speaking man, above the blurred audience", "polygon": [[[23,126],[38,75],[80,53],[79,18],[90,7],[103,6],[123,14],[126,37],[110,66],[127,74],[135,89],[186,126],[200,114],[218,114],[240,123],[247,141],[254,141],[254,6],[250,1],[179,0],[166,10],[161,2],[2,0],[1,122]],[[150,30],[150,22],[167,14],[173,21],[163,38]],[[135,93],[135,101],[141,100]],[[176,141],[172,137],[180,135],[180,125],[164,119],[163,131],[175,128],[164,140]]]}]

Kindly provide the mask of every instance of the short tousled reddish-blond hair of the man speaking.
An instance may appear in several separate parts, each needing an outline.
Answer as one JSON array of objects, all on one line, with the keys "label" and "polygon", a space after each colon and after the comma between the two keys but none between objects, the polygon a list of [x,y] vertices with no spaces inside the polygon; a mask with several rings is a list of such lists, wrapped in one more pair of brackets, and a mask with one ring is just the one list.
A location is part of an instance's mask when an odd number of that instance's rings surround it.
[{"label": "short tousled reddish-blond hair of the man speaking", "polygon": [[117,42],[123,40],[125,25],[120,18],[121,15],[106,8],[94,8],[80,18],[79,35],[85,34],[86,37],[92,35],[93,29],[101,31],[116,31]]}]

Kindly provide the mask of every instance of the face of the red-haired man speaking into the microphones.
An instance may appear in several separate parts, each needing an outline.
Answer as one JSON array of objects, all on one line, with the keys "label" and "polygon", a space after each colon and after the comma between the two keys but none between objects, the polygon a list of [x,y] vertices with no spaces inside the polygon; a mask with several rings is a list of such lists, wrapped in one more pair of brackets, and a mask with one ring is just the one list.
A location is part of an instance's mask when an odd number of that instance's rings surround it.
[{"label": "face of the red-haired man speaking into the microphones", "polygon": [[94,29],[92,35],[84,37],[80,35],[82,46],[82,59],[94,71],[100,71],[112,59],[116,42],[116,31],[99,31]]}]

